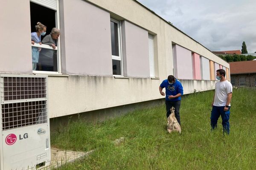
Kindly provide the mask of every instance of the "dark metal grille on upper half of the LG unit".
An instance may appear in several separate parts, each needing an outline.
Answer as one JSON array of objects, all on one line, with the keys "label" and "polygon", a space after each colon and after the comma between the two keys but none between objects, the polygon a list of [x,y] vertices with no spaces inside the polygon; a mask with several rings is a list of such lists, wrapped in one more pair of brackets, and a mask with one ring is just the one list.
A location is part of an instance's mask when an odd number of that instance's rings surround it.
[{"label": "dark metal grille on upper half of the LG unit", "polygon": [[2,129],[48,122],[47,77],[1,75]]}]

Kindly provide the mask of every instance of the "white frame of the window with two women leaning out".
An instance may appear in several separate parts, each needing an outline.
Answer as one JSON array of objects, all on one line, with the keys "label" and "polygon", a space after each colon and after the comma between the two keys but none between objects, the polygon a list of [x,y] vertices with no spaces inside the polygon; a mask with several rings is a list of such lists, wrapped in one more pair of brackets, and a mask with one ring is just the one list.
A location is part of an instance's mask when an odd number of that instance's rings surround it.
[{"label": "white frame of the window with two women leaning out", "polygon": [[[32,0],[29,0],[30,2],[32,3],[35,3],[34,1]],[[38,5],[41,5],[41,4],[38,4]],[[41,5],[42,6],[42,5]],[[44,6],[46,7],[46,6]],[[49,7],[46,7],[46,8],[49,8]],[[52,8],[50,8],[52,9]],[[52,9],[54,10],[54,9]],[[59,0],[56,0],[56,10],[55,11],[55,24],[56,24],[56,28],[60,28],[60,10],[59,10]],[[62,74],[61,73],[61,36],[56,40],[56,46],[58,47],[58,50],[57,50],[57,68],[58,68],[58,71],[34,71],[32,70],[32,73],[33,74]],[[31,62],[32,64],[32,62]]]}]

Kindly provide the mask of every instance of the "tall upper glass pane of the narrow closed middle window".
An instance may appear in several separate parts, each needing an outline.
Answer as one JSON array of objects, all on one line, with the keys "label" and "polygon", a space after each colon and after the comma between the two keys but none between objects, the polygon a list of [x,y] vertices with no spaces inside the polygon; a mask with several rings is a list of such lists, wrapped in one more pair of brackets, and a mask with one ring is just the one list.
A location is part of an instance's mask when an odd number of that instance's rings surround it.
[{"label": "tall upper glass pane of the narrow closed middle window", "polygon": [[111,48],[112,55],[119,56],[119,47],[118,47],[118,24],[110,22],[111,26]]}]

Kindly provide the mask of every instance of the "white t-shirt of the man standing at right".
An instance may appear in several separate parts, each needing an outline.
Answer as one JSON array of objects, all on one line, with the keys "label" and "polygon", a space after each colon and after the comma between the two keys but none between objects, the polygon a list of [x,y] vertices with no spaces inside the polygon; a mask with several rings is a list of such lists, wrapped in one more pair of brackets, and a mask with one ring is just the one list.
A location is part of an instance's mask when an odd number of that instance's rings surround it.
[{"label": "white t-shirt of the man standing at right", "polygon": [[[218,81],[215,84],[214,106],[225,106],[227,94],[232,93],[232,84],[229,81]],[[230,104],[229,104],[230,106]]]}]

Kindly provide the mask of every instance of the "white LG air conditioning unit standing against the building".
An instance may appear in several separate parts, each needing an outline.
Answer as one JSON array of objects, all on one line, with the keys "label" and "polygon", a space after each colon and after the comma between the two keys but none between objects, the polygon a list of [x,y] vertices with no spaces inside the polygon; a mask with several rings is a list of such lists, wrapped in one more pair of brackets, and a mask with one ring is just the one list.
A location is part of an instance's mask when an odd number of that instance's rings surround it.
[{"label": "white LG air conditioning unit standing against the building", "polygon": [[47,76],[0,74],[0,167],[50,164]]}]

